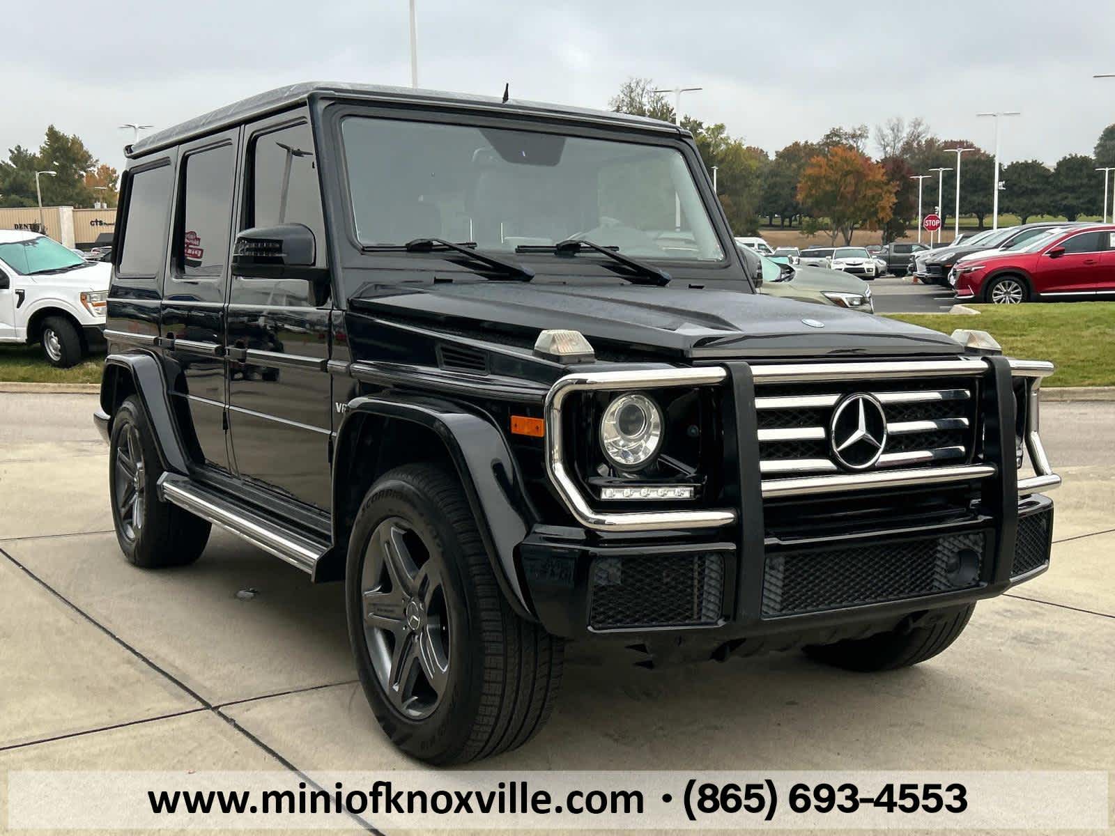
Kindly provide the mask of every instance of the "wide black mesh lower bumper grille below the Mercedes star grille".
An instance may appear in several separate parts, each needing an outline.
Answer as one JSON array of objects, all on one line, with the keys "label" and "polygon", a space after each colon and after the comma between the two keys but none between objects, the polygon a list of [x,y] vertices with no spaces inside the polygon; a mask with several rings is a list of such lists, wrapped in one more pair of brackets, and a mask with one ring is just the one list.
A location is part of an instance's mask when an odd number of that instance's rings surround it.
[{"label": "wide black mesh lower bumper grille below the Mercedes star grille", "polygon": [[763,575],[763,615],[794,615],[933,595],[979,584],[981,532],[775,552]]}]

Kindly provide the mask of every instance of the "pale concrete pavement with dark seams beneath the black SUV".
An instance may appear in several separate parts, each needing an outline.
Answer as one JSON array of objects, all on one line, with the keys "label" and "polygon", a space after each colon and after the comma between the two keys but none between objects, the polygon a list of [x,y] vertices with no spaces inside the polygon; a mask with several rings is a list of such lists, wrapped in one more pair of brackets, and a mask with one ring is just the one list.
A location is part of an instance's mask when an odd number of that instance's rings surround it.
[{"label": "pale concrete pavement with dark seams beneath the black SUV", "polygon": [[[0,396],[0,786],[11,769],[415,768],[355,682],[339,585],[223,534],[190,567],[124,562],[94,405]],[[1115,404],[1041,417],[1066,477],[1053,567],[981,603],[941,657],[646,671],[571,645],[550,725],[486,766],[1115,769]]]}]

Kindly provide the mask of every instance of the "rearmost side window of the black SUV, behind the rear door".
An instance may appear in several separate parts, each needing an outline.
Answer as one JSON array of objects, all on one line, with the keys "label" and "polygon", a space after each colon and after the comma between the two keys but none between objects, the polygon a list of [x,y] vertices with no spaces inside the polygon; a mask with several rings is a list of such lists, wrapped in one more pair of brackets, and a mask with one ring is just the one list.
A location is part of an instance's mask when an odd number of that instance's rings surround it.
[{"label": "rearmost side window of the black SUV, behind the rear door", "polygon": [[154,279],[163,272],[173,181],[169,165],[130,175],[117,275]]}]

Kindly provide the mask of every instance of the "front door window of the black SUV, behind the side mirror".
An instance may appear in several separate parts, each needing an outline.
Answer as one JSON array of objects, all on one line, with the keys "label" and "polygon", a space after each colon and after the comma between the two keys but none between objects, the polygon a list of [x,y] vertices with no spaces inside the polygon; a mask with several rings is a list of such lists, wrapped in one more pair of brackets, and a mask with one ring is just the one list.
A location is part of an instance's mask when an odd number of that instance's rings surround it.
[{"label": "front door window of the black SUV, behind the side mirror", "polygon": [[324,266],[326,223],[310,126],[295,125],[255,136],[248,158],[251,191],[245,226],[306,224],[317,242],[314,263]]}]

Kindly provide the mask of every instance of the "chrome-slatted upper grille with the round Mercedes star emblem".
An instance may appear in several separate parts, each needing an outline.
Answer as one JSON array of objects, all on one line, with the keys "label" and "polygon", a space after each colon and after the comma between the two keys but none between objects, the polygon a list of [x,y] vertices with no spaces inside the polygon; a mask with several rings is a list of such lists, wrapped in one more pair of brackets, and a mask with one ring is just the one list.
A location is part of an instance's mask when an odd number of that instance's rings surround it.
[{"label": "chrome-slatted upper grille with the round Mercedes star emblem", "polygon": [[886,422],[885,445],[867,469],[963,465],[975,458],[976,378],[763,385],[755,406],[764,479],[852,470],[836,457],[832,435],[833,416],[856,393],[873,396]]}]

